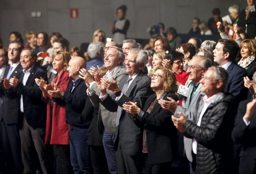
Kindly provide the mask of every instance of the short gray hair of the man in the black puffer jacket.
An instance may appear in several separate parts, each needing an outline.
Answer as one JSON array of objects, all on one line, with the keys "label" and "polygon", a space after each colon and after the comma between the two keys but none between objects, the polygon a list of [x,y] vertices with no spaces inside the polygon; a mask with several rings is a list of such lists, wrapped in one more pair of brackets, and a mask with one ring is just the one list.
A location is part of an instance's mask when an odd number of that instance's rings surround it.
[{"label": "short gray hair of the man in the black puffer jacket", "polygon": [[214,72],[213,75],[214,75],[215,81],[221,80],[223,82],[221,89],[224,90],[228,82],[228,72],[224,68],[219,66],[212,66],[208,70],[211,70]]}]

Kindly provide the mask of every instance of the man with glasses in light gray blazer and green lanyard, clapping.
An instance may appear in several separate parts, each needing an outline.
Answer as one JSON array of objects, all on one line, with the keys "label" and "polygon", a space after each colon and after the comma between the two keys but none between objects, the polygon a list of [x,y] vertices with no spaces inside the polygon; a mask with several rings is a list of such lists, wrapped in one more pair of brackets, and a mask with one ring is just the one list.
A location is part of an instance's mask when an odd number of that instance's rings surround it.
[{"label": "man with glasses in light gray blazer and green lanyard, clapping", "polygon": [[[195,115],[199,105],[199,102],[197,101],[200,101],[200,99],[204,96],[204,93],[200,91],[202,83],[199,83],[199,81],[201,80],[201,76],[204,75],[204,73],[211,65],[211,60],[205,58],[204,56],[194,56],[189,62],[187,73],[189,74],[188,78],[192,80],[192,82],[188,85],[188,99],[185,104],[185,109],[188,109]],[[170,101],[161,99],[159,103],[164,109],[168,109],[174,114],[177,114],[178,111],[181,112],[181,110],[183,110],[183,108],[178,105],[172,98],[170,98]],[[196,122],[196,118],[187,119]],[[192,162],[192,139],[190,137],[186,137],[186,135],[184,136],[184,149],[188,160]]]}]

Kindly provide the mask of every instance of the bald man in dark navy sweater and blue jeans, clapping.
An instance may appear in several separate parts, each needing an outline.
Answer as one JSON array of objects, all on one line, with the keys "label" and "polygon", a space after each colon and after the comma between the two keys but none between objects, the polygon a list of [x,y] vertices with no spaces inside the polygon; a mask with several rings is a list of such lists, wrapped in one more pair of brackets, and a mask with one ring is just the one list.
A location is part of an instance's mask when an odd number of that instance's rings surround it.
[{"label": "bald man in dark navy sweater and blue jeans, clapping", "polygon": [[[79,78],[79,70],[86,67],[82,57],[74,57],[68,62],[68,73],[73,80],[68,84],[67,91],[59,88],[48,91],[59,105],[66,105],[66,122],[69,124],[70,160],[75,173],[92,173],[90,153],[87,145],[91,118],[82,118],[81,114],[87,99],[86,85]],[[90,101],[89,101],[90,102]]]}]

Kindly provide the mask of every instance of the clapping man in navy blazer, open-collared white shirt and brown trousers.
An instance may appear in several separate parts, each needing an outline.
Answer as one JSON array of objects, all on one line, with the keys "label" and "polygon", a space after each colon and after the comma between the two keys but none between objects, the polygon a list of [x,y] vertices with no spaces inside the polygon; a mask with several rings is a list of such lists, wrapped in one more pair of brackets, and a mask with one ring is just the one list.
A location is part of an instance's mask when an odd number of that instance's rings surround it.
[{"label": "clapping man in navy blazer, open-collared white shirt and brown trousers", "polygon": [[31,146],[35,146],[43,173],[49,172],[47,150],[44,145],[46,124],[46,103],[42,101],[42,91],[36,85],[35,78],[44,78],[43,69],[36,67],[37,55],[32,49],[23,49],[20,64],[23,68],[17,77],[4,79],[4,88],[8,98],[18,98],[19,123],[23,173],[33,173],[33,154]]}]

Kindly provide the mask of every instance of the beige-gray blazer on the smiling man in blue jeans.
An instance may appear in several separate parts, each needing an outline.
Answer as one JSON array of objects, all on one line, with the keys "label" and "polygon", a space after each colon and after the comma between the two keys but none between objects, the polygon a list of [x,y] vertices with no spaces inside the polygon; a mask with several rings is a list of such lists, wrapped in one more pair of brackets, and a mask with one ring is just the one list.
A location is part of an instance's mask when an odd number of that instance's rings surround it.
[{"label": "beige-gray blazer on the smiling man in blue jeans", "polygon": [[[113,77],[116,79],[117,86],[119,86],[120,80],[124,78],[124,76],[127,76],[126,70],[122,66],[118,66],[117,69],[115,70]],[[103,76],[103,78],[108,79],[106,75]],[[113,81],[112,78],[109,79],[109,81]],[[100,129],[100,123],[101,120],[103,122],[105,130],[108,132],[110,135],[114,135],[116,132],[116,112],[110,112],[108,111],[101,103],[100,103],[100,91],[98,89],[98,86],[96,83],[94,83],[91,87],[91,90],[94,92],[93,95],[89,96],[92,104],[94,106],[99,107],[99,116],[98,116],[98,122],[97,122],[97,129],[98,133],[102,134],[103,130]],[[114,96],[113,91],[107,90],[109,96]],[[100,118],[101,117],[101,118]],[[100,120],[101,119],[101,120]]]}]

